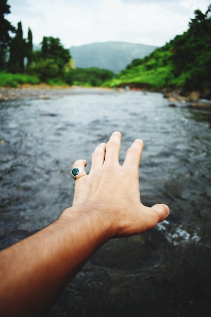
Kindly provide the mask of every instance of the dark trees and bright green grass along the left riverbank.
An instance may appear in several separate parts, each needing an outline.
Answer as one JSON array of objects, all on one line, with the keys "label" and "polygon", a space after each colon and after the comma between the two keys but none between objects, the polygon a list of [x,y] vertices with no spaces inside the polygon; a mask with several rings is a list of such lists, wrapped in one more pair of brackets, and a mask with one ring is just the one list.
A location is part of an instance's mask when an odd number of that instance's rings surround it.
[{"label": "dark trees and bright green grass along the left riverbank", "polygon": [[15,28],[5,19],[5,15],[10,13],[7,0],[0,0],[0,4],[0,86],[17,87],[18,84],[45,82],[52,86],[74,84],[93,87],[113,77],[113,72],[106,69],[76,69],[69,50],[62,46],[59,38],[44,36],[41,49],[33,52],[30,28],[28,37],[23,38],[21,22]]}]

